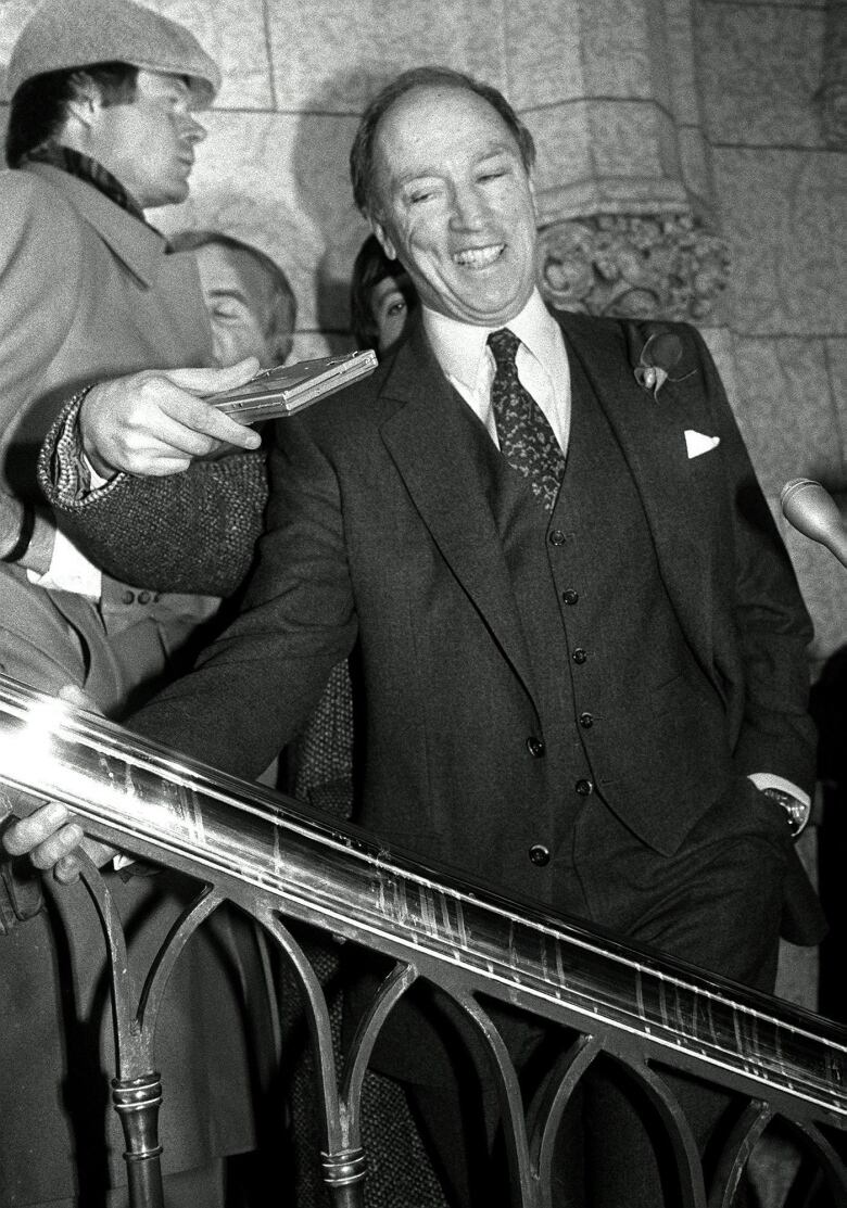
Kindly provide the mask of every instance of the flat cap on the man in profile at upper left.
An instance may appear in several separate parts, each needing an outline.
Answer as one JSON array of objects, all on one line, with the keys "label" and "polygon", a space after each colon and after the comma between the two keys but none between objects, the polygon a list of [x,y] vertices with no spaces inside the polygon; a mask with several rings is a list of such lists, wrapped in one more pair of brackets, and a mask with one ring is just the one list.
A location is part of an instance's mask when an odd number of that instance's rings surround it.
[{"label": "flat cap on the man in profile at upper left", "polygon": [[221,74],[195,35],[133,0],[43,0],[12,48],[8,92],[45,71],[128,63],[186,76],[197,104],[211,104]]}]

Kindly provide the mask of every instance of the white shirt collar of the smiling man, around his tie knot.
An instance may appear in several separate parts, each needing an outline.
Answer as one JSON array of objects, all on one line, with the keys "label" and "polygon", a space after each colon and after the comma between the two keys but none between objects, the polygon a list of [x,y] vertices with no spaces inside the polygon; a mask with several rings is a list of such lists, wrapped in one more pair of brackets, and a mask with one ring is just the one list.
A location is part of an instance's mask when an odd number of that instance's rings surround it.
[{"label": "white shirt collar of the smiling man, around his tie knot", "polygon": [[506,324],[480,327],[475,324],[452,319],[429,307],[423,307],[423,324],[439,365],[454,382],[468,390],[476,389],[480,373],[488,367],[487,339],[492,331],[509,327],[533,356],[549,368],[556,358],[557,341],[561,339],[558,324],[544,304],[541,295],[533,290],[523,309]]}]

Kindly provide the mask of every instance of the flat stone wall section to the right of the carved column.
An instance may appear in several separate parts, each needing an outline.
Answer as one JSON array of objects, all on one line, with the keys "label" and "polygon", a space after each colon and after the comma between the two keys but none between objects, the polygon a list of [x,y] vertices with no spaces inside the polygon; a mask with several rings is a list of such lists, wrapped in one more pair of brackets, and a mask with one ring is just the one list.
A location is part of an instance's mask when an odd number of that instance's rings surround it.
[{"label": "flat stone wall section to the right of the carved column", "polygon": [[[846,29],[843,0],[701,0],[697,8],[701,95],[732,265],[726,361],[771,495],[805,475],[847,490],[847,139],[831,117]],[[847,641],[847,574],[784,528],[819,664]]]}]

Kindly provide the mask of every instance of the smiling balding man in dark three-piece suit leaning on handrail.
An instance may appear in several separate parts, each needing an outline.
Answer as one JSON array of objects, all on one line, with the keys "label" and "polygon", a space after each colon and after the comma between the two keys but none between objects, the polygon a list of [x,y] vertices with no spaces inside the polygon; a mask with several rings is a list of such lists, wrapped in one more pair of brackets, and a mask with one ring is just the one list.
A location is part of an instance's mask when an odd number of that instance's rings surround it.
[{"label": "smiling balding man in dark three-piece suit leaning on handrail", "polygon": [[[355,650],[356,820],[387,848],[770,991],[781,920],[820,934],[791,830],[813,778],[808,618],[701,337],[544,306],[533,157],[506,100],[458,72],[405,72],[371,103],[354,193],[420,321],[372,378],[278,425],[244,611],[130,725],[251,777]],[[646,389],[659,348],[671,373]],[[79,840],[41,814],[7,842],[64,876]],[[499,1206],[437,1009],[404,999],[377,1059],[453,1202]],[[551,1038],[497,1020],[529,1070]],[[679,1093],[704,1144],[715,1105]],[[586,1184],[564,1173],[557,1204],[679,1202],[625,1093],[598,1078],[586,1111]]]}]

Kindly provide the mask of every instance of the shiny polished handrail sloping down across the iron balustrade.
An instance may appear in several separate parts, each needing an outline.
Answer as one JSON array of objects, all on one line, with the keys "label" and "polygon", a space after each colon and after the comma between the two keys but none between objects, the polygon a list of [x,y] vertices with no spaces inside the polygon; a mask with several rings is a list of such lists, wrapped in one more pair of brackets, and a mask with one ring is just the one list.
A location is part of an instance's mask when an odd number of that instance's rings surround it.
[{"label": "shiny polished handrail sloping down across the iron balustrade", "polygon": [[411,971],[398,995],[427,977],[472,1015],[485,992],[625,1061],[637,1052],[766,1100],[801,1128],[847,1128],[835,1023],[389,852],[7,676],[0,782],[65,801],[94,837],[213,884],[271,927],[279,911],[395,958]]}]

